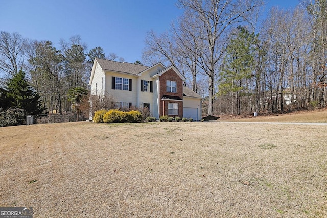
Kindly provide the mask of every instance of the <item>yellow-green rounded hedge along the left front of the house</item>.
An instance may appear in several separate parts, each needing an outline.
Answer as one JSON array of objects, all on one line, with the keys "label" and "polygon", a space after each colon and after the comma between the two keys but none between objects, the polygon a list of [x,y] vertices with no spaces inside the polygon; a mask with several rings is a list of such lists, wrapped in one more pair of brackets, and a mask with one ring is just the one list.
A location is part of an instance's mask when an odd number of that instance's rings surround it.
[{"label": "yellow-green rounded hedge along the left front of the house", "polygon": [[136,123],[142,121],[142,114],[139,111],[132,110],[124,112],[120,110],[100,110],[96,111],[93,117],[95,123]]}]

